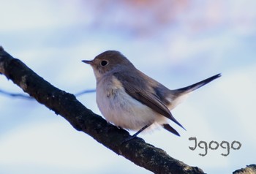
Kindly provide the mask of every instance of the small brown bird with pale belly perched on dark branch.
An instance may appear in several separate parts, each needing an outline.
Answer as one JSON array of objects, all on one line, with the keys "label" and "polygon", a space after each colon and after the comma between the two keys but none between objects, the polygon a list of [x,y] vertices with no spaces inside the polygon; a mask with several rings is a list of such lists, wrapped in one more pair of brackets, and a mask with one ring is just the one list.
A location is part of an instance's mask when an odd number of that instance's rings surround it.
[{"label": "small brown bird with pale belly perched on dark branch", "polygon": [[221,74],[208,77],[184,88],[170,90],[148,75],[140,72],[117,50],[107,50],[93,60],[83,60],[91,65],[96,77],[96,100],[105,119],[122,129],[140,132],[163,127],[180,136],[170,121],[184,129],[170,110],[173,110],[192,91],[217,79]]}]

